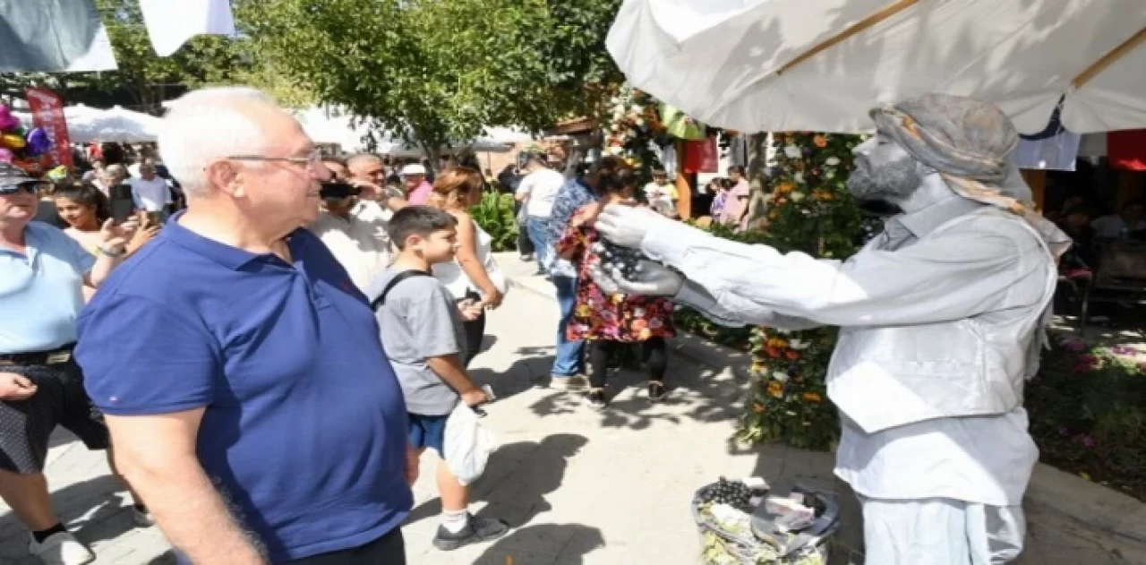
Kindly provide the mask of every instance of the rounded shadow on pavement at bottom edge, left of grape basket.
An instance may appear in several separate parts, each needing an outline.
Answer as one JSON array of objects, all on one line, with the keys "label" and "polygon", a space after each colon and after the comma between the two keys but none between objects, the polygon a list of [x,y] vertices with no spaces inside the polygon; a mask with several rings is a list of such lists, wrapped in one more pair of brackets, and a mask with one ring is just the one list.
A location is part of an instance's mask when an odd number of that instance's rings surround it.
[{"label": "rounded shadow on pavement at bottom edge, left of grape basket", "polygon": [[[605,546],[605,537],[595,527],[580,524],[542,524],[511,532],[497,540],[474,565],[533,565],[584,563],[584,556]],[[559,550],[555,557],[551,551]],[[547,555],[549,554],[549,555]]]}]

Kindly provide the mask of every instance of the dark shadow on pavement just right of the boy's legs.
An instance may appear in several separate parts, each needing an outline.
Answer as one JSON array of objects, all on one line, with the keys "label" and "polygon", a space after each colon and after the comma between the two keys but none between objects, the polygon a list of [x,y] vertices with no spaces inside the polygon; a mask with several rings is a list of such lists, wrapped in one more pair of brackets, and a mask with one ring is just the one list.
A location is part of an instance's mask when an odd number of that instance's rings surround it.
[{"label": "dark shadow on pavement just right of the boy's legs", "polygon": [[[583,435],[558,433],[541,441],[500,447],[489,456],[485,474],[473,485],[470,502],[487,502],[479,516],[501,518],[512,527],[528,524],[552,508],[545,495],[562,486],[568,458],[588,442]],[[441,500],[434,497],[415,508],[403,526],[439,513]]]}]

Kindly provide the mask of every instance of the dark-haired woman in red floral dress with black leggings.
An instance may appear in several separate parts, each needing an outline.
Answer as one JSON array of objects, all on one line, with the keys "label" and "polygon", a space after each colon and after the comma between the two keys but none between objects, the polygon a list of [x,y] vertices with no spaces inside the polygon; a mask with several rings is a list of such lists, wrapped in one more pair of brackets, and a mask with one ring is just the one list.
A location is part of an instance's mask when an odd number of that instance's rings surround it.
[{"label": "dark-haired woman in red floral dress with black leggings", "polygon": [[597,202],[582,206],[573,214],[556,245],[562,258],[578,265],[576,306],[566,333],[568,339],[589,342],[592,371],[586,403],[598,410],[607,405],[605,376],[609,355],[620,344],[641,344],[649,369],[649,400],[657,402],[666,394],[664,380],[668,346],[665,338],[674,335],[672,303],[658,297],[606,295],[589,276],[589,268],[601,262],[601,257],[594,251],[594,244],[601,240],[592,228],[597,214],[607,204],[630,198],[636,187],[637,178],[631,171],[621,171],[603,181]]}]

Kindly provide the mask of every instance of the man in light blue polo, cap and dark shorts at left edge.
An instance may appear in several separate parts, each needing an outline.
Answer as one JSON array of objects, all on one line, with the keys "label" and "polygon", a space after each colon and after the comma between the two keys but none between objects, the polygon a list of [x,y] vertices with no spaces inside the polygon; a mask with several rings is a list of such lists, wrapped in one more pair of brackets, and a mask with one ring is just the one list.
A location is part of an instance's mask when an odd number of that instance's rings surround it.
[{"label": "man in light blue polo, cap and dark shorts at left edge", "polygon": [[92,257],[58,228],[32,221],[38,185],[0,163],[0,496],[32,531],[32,554],[70,565],[94,556],[52,510],[42,472],[48,438],[62,425],[88,448],[108,447],[71,348],[84,284],[108,276],[135,225],[104,225],[100,257]]}]

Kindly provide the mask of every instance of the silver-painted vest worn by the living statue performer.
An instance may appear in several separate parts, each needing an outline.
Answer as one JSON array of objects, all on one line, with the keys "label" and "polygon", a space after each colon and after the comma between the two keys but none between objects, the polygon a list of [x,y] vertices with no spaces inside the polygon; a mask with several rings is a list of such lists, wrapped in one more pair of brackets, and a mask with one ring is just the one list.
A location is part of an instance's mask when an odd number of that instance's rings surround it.
[{"label": "silver-painted vest worn by the living statue performer", "polygon": [[1037,369],[1058,282],[1043,238],[1020,218],[983,209],[943,223],[920,241],[984,213],[1022,225],[1046,253],[1046,285],[1038,306],[1006,322],[987,322],[980,315],[909,327],[841,328],[827,368],[827,394],[865,432],[933,418],[1004,414],[1022,406],[1023,383]]}]

